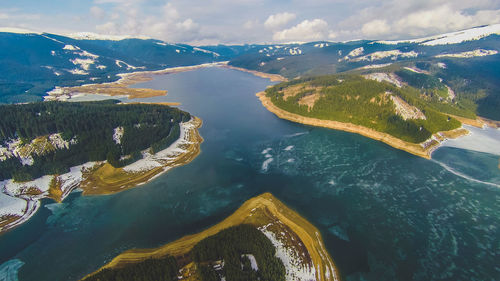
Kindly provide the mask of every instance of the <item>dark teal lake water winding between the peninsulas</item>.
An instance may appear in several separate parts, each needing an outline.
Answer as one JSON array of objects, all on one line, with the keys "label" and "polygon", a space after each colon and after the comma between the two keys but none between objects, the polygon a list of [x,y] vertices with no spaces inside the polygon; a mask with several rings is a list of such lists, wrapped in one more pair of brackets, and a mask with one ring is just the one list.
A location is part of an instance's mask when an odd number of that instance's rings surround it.
[{"label": "dark teal lake water winding between the peninsulas", "polygon": [[203,120],[202,153],[115,195],[44,200],[0,236],[0,264],[16,259],[9,268],[19,280],[78,280],[126,249],[203,230],[269,191],[320,229],[346,280],[498,279],[498,156],[445,147],[429,161],[281,120],[255,97],[268,85],[224,68],[135,85],[168,95],[134,101],[180,102]]}]

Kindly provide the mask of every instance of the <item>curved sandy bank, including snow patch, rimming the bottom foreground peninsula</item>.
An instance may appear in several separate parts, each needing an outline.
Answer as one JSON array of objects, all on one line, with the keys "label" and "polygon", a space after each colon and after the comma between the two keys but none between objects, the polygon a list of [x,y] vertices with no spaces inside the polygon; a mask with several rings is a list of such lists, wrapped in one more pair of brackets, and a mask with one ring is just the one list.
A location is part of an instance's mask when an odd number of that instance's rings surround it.
[{"label": "curved sandy bank, including snow patch, rimming the bottom foreground peninsula", "polygon": [[[301,273],[307,273],[309,276],[312,274],[315,280],[340,280],[338,270],[325,249],[318,229],[270,193],[246,201],[231,216],[205,231],[185,236],[155,249],[128,250],[115,257],[101,269],[122,267],[165,255],[181,257],[204,238],[217,234],[230,226],[243,223],[254,225],[265,234],[272,233],[273,238],[279,240],[282,245],[286,245],[286,248],[291,249],[296,254],[293,258],[300,262],[293,265],[288,264],[288,267],[285,265],[287,280],[310,280],[301,278],[303,276]],[[277,256],[280,257],[279,253]]]}]

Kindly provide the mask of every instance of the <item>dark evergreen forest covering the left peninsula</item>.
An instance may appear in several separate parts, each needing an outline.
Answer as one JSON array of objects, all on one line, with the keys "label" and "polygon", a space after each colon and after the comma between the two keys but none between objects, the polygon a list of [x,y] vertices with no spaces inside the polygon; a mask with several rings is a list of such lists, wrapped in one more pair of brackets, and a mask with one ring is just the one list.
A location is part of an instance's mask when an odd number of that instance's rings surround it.
[{"label": "dark evergreen forest covering the left peninsula", "polygon": [[[36,102],[0,105],[0,144],[21,139],[29,144],[40,136],[60,133],[67,149],[32,155],[33,165],[18,158],[0,161],[0,180],[31,180],[47,174],[62,174],[72,166],[103,161],[120,167],[142,157],[140,151],[152,147],[157,152],[168,147],[180,134],[179,123],[189,113],[152,104],[118,104],[117,100],[99,102]],[[124,128],[121,143],[113,139],[114,129]]]}]

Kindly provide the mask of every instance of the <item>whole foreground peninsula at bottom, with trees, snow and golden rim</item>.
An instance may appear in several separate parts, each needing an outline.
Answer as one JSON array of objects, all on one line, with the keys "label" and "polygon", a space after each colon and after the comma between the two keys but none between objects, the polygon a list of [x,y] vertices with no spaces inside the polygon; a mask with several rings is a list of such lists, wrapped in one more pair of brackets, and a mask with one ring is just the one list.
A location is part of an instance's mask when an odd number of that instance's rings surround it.
[{"label": "whole foreground peninsula at bottom, with trees, snow and golden rim", "polygon": [[340,280],[318,229],[270,193],[200,233],[128,250],[82,280],[134,274],[143,280],[159,280],[157,274],[172,280]]}]

